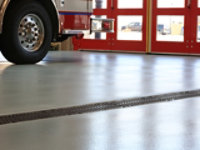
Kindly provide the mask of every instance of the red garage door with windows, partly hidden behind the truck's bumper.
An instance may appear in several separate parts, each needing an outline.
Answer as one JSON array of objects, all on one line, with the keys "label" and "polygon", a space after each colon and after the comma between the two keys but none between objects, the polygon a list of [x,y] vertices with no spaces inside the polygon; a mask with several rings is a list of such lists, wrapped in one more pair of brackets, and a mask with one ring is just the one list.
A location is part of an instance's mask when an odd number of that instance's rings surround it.
[{"label": "red garage door with windows, partly hidden behind the truck's bumper", "polygon": [[[81,40],[78,49],[102,48],[103,50],[145,52],[147,0],[96,0],[94,2],[94,15],[114,18],[115,32],[93,33],[88,36],[90,40],[88,37]],[[99,39],[98,36],[101,38]]]}]

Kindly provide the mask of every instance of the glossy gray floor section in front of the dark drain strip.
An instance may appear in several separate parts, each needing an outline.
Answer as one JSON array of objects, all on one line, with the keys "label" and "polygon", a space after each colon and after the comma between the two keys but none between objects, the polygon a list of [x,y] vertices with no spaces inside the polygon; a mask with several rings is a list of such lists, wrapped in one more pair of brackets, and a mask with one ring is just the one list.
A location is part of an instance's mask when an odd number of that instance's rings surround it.
[{"label": "glossy gray floor section in front of the dark drain strip", "polygon": [[0,126],[2,150],[199,150],[200,98]]}]

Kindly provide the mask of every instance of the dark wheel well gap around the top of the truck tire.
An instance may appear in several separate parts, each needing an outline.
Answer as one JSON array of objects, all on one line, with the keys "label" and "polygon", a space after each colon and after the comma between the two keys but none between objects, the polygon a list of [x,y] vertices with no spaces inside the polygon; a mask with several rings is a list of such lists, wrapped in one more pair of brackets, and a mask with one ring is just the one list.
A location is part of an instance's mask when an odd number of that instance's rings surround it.
[{"label": "dark wheel well gap around the top of the truck tire", "polygon": [[[11,0],[9,5],[8,5],[8,8],[6,9],[6,11],[9,10],[10,7],[12,6],[15,6],[15,4],[18,2],[18,1],[21,1],[21,0]],[[52,33],[53,33],[53,39],[57,38],[57,35],[59,33],[59,18],[58,18],[58,15],[57,15],[57,10],[53,4],[53,2],[51,0],[35,0],[35,1],[38,1],[40,2],[43,7],[46,9],[46,11],[48,12],[50,18],[51,18],[51,23],[52,23]],[[5,12],[6,14],[6,12]],[[53,40],[52,39],[52,40]]]}]

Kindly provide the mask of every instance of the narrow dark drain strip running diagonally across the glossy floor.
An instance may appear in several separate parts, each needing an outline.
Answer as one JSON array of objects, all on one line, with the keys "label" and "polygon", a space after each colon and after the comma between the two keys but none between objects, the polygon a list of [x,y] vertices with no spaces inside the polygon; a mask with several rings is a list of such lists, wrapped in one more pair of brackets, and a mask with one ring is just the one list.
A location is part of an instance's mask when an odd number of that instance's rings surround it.
[{"label": "narrow dark drain strip running diagonally across the glossy floor", "polygon": [[65,115],[83,114],[83,113],[116,109],[122,107],[144,105],[156,102],[173,101],[173,100],[192,98],[198,96],[200,96],[200,89],[191,91],[173,92],[168,94],[152,95],[152,96],[135,97],[122,100],[113,100],[108,102],[92,103],[92,104],[85,104],[85,105],[65,107],[65,108],[56,108],[56,109],[17,113],[17,114],[1,115],[0,125],[17,123],[22,121],[53,118]]}]

